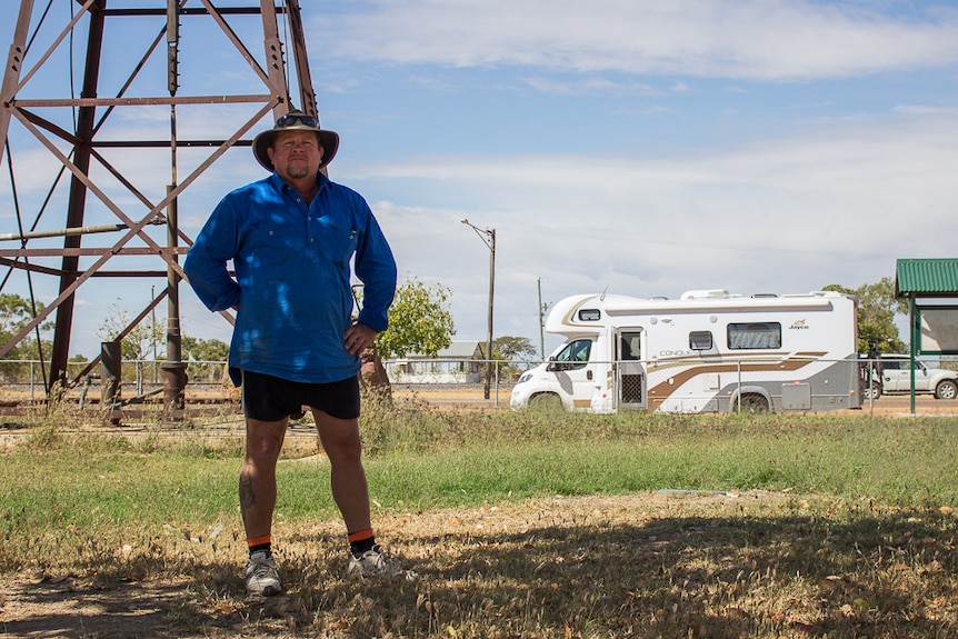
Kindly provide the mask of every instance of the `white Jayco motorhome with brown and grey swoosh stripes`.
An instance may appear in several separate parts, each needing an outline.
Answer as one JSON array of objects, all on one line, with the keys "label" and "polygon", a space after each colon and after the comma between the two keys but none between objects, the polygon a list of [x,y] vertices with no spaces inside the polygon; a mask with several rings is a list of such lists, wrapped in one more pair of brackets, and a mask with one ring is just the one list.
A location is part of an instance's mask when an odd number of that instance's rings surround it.
[{"label": "white Jayco motorhome with brown and grey swoosh stripes", "polygon": [[610,413],[861,407],[857,302],[831,291],[678,300],[579,294],[546,330],[566,341],[523,373],[510,406]]}]

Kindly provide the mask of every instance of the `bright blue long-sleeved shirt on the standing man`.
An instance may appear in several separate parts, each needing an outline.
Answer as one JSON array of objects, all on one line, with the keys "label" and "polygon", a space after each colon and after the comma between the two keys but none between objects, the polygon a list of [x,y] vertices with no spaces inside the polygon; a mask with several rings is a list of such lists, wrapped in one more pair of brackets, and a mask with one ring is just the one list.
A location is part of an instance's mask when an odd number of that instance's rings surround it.
[{"label": "bright blue long-sleeved shirt on the standing man", "polygon": [[[319,174],[307,206],[277,173],[228,193],[183,262],[212,311],[236,307],[230,376],[238,369],[328,383],[359,372],[343,345],[352,323],[350,260],[365,284],[358,321],[388,326],[396,261],[366,200]],[[236,279],[230,277],[232,260]]]}]

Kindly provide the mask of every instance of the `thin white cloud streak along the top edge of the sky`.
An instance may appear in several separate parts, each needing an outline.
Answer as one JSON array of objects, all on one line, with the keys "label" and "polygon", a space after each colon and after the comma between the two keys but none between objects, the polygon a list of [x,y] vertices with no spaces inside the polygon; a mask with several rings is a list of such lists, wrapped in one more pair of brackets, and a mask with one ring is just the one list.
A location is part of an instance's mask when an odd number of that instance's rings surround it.
[{"label": "thin white cloud streak along the top edge of the sky", "polygon": [[[353,8],[355,7],[355,8]],[[958,16],[797,0],[378,0],[321,14],[323,56],[400,64],[792,80],[958,60]]]}]

